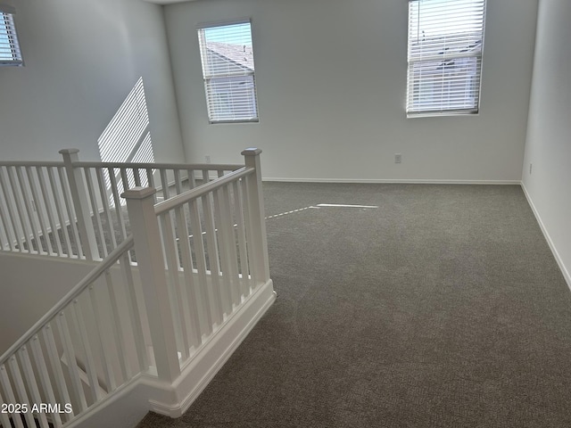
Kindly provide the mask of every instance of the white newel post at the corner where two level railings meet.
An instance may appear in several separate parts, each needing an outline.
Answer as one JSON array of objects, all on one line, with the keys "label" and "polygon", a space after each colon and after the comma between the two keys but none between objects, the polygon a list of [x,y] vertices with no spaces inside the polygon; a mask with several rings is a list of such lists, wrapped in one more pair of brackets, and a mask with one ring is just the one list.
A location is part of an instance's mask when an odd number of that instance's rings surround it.
[{"label": "white newel post at the corner where two level railings meet", "polygon": [[246,177],[248,186],[248,208],[252,225],[252,246],[254,252],[253,271],[256,283],[269,281],[268,238],[266,236],[266,217],[264,198],[261,188],[261,149],[245,149],[242,152],[246,168],[255,169],[255,174]]}]

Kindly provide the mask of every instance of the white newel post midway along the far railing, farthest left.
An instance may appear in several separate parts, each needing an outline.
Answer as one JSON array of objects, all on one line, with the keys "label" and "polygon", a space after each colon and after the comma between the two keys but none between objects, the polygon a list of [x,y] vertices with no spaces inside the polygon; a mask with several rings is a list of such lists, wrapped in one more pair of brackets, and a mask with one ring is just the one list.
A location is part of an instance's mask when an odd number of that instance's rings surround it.
[{"label": "white newel post midway along the far railing, farthest left", "polygon": [[[59,153],[63,157],[63,164],[70,185],[71,201],[78,221],[81,247],[86,254],[86,259],[93,260],[95,257],[99,257],[99,250],[97,249],[95,230],[91,220],[91,210],[87,201],[87,184],[81,174],[82,169],[73,166],[74,162],[79,162],[79,149],[62,149]],[[94,215],[96,214],[94,212]],[[73,219],[70,218],[70,221]]]}]

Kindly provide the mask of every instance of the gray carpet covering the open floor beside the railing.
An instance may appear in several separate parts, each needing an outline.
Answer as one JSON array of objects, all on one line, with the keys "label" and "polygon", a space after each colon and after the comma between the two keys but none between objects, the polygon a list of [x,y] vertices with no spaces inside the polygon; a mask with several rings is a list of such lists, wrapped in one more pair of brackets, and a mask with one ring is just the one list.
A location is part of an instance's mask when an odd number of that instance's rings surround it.
[{"label": "gray carpet covering the open floor beside the railing", "polygon": [[571,426],[571,293],[519,186],[264,184],[277,300],[147,427]]}]

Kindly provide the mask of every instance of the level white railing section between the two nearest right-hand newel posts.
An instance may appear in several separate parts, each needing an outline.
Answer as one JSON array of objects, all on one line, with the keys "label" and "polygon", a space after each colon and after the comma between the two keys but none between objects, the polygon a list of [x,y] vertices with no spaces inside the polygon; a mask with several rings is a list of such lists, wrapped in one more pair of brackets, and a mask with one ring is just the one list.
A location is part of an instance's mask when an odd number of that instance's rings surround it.
[{"label": "level white railing section between the two nearest right-hand newel posts", "polygon": [[157,362],[166,379],[269,281],[260,153],[246,150],[244,168],[156,205],[151,188],[123,193],[144,289],[164,310],[149,318],[151,334],[177,350]]}]

